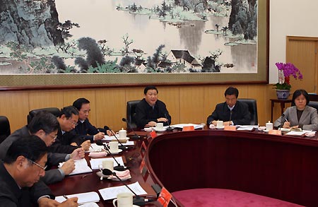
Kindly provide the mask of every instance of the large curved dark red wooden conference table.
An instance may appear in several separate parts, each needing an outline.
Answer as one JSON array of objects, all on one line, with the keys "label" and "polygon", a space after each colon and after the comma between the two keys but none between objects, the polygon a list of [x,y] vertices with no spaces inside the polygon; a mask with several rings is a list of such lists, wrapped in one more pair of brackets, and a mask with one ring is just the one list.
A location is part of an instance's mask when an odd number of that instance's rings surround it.
[{"label": "large curved dark red wooden conference table", "polygon": [[[318,136],[312,138],[271,135],[254,131],[199,129],[157,133],[136,140],[133,149],[122,154],[131,172],[131,184],[138,181],[155,196],[151,185],[168,191],[219,188],[269,196],[303,206],[318,206]],[[130,135],[134,135],[130,133]],[[143,144],[144,143],[144,144]],[[146,143],[146,144],[145,144]],[[141,147],[150,176],[141,175]],[[86,159],[89,160],[88,155]],[[49,187],[57,196],[96,191],[122,185],[93,173],[72,175]],[[99,194],[99,192],[98,192]],[[182,203],[176,201],[178,206]],[[99,206],[112,206],[102,201]],[[157,201],[146,206],[161,206]]]}]

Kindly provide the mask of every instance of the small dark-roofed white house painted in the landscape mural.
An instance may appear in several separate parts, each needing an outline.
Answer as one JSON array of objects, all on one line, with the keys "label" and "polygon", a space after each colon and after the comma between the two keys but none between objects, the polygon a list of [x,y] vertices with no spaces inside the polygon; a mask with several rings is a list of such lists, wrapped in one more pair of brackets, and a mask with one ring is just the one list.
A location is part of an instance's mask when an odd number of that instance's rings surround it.
[{"label": "small dark-roofed white house painted in the landscape mural", "polygon": [[187,69],[201,70],[201,64],[187,50],[171,50],[167,59],[172,63],[184,64]]}]

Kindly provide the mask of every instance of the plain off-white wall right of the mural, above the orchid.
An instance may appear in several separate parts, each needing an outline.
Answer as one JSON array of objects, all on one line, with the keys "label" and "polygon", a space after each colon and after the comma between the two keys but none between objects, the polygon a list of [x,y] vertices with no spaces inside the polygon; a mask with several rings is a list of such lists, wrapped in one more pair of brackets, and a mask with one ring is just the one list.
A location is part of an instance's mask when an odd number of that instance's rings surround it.
[{"label": "plain off-white wall right of the mural, above the orchid", "polygon": [[318,37],[318,1],[269,1],[269,83],[276,83],[275,63],[285,62],[286,36]]}]

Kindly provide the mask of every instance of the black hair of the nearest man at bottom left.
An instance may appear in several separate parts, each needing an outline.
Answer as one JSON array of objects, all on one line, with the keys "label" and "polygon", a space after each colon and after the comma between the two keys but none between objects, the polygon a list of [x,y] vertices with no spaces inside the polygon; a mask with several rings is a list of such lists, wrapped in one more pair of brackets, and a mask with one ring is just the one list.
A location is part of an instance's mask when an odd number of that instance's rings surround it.
[{"label": "black hair of the nearest man at bottom left", "polygon": [[47,153],[47,145],[38,136],[30,135],[13,141],[6,152],[4,163],[11,164],[16,161],[18,156],[24,156],[29,160],[40,160]]}]

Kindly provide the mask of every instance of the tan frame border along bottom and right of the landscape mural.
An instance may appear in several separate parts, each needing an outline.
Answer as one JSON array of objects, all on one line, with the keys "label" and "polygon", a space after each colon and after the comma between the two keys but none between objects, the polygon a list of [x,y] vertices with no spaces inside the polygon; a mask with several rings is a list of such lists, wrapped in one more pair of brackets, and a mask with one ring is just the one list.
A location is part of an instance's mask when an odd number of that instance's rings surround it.
[{"label": "tan frame border along bottom and right of the landscape mural", "polygon": [[258,0],[257,73],[59,73],[0,75],[2,90],[54,88],[61,85],[86,88],[120,85],[222,85],[269,83],[269,0]]}]

